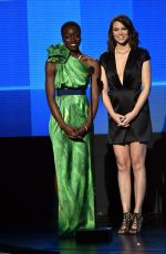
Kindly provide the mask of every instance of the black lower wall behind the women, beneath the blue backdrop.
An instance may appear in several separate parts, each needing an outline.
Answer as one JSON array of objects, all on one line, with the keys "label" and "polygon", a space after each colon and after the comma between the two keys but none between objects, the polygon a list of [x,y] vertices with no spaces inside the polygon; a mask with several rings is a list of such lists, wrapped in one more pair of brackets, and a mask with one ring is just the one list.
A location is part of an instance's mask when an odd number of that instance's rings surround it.
[{"label": "black lower wall behind the women, beneath the blue backdrop", "polygon": [[[166,135],[153,134],[146,157],[147,190],[143,212],[166,221]],[[58,200],[49,137],[0,138],[0,226],[53,227]],[[107,136],[94,136],[96,222],[116,224],[121,202],[116,165]],[[68,209],[68,208],[66,208]]]}]

